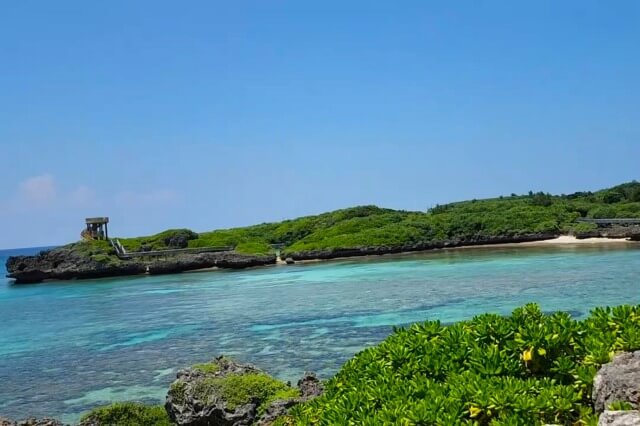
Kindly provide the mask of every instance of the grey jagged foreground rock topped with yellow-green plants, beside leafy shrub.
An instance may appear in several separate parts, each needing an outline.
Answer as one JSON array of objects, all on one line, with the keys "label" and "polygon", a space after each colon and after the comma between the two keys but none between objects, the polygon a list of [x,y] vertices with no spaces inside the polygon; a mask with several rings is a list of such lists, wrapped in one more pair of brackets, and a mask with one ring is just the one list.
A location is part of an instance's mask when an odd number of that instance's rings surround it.
[{"label": "grey jagged foreground rock topped with yellow-green plants, beside leafy shrub", "polygon": [[[256,381],[260,384],[252,385]],[[278,389],[292,396],[276,398],[277,394],[267,395],[263,389]],[[219,357],[179,371],[169,388],[165,408],[178,425],[266,426],[294,405],[321,393],[322,385],[313,373],[305,373],[296,390],[251,364]]]}]

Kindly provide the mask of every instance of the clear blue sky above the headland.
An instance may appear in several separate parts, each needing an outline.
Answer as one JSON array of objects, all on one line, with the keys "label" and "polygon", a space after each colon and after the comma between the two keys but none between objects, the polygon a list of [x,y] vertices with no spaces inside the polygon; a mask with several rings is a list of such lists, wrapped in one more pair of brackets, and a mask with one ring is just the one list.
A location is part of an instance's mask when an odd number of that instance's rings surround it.
[{"label": "clear blue sky above the headland", "polygon": [[[517,3],[517,4],[516,4]],[[0,248],[639,178],[637,1],[19,1]]]}]

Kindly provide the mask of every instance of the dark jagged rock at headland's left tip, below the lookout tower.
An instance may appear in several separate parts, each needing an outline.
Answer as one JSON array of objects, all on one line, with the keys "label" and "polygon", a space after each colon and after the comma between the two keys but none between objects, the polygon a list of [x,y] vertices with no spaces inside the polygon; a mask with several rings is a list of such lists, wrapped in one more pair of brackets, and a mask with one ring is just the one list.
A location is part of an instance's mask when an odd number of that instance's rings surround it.
[{"label": "dark jagged rock at headland's left tip, below the lookout tower", "polygon": [[246,255],[232,251],[180,253],[163,258],[104,259],[64,246],[36,256],[13,256],[7,260],[7,277],[16,283],[36,283],[48,279],[71,280],[137,274],[172,274],[204,268],[247,268],[274,264],[275,255]]}]

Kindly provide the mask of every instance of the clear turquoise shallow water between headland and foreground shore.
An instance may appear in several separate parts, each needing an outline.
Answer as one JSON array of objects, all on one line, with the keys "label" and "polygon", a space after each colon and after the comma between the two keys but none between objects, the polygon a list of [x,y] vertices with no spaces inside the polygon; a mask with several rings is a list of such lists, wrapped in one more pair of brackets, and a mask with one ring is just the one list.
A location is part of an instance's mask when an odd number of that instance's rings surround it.
[{"label": "clear turquoise shallow water between headland and foreground shore", "polygon": [[[4,265],[6,252],[0,252]],[[535,301],[583,316],[640,303],[640,249],[480,248],[246,271],[10,285],[0,279],[0,416],[162,401],[177,368],[228,354],[323,377],[394,325]]]}]

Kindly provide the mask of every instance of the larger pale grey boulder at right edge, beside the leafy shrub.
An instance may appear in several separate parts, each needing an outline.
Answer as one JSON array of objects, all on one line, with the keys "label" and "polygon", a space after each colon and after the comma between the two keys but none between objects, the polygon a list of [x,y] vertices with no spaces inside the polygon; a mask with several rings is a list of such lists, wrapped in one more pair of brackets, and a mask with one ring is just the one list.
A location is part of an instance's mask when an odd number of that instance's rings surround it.
[{"label": "larger pale grey boulder at right edge, beside the leafy shrub", "polygon": [[640,409],[640,351],[620,354],[603,365],[594,378],[592,398],[597,413],[614,402]]}]

